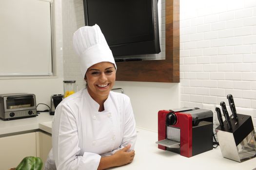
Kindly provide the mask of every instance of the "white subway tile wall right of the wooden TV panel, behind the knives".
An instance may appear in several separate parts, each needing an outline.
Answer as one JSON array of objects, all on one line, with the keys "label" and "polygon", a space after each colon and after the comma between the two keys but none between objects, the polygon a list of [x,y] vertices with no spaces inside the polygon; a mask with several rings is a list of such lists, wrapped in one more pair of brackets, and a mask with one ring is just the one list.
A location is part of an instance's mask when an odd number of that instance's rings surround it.
[{"label": "white subway tile wall right of the wooden TV panel, behind the knives", "polygon": [[181,106],[215,112],[232,94],[256,127],[256,0],[180,0],[180,75]]}]

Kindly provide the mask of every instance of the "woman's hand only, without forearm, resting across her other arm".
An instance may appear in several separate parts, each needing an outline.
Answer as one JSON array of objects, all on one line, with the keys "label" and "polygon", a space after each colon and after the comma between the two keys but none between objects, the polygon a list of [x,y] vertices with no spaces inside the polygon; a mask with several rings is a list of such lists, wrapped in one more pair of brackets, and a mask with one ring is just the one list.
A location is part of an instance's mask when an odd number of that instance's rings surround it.
[{"label": "woman's hand only, without forearm, resting across her other arm", "polygon": [[117,166],[122,166],[129,164],[133,161],[133,158],[135,156],[135,151],[127,152],[131,148],[131,145],[127,145],[123,149],[117,151],[115,154],[113,154],[113,157],[115,157]]}]

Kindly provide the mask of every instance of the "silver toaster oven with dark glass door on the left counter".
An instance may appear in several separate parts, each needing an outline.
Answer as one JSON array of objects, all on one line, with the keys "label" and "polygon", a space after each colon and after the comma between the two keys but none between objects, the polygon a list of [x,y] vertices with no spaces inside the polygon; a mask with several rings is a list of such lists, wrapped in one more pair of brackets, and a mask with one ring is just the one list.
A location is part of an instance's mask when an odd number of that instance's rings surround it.
[{"label": "silver toaster oven with dark glass door on the left counter", "polygon": [[0,94],[0,118],[3,120],[37,116],[35,94]]}]

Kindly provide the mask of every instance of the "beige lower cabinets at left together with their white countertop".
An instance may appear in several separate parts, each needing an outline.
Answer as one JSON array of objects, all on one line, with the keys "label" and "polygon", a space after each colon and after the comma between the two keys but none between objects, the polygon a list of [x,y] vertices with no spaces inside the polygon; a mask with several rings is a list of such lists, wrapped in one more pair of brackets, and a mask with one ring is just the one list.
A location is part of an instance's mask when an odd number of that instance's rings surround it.
[{"label": "beige lower cabinets at left together with their white countertop", "polygon": [[41,125],[44,122],[51,125],[52,119],[53,115],[48,112],[34,118],[0,119],[0,170],[17,167],[26,156],[37,156],[45,161],[51,148],[51,128]]}]

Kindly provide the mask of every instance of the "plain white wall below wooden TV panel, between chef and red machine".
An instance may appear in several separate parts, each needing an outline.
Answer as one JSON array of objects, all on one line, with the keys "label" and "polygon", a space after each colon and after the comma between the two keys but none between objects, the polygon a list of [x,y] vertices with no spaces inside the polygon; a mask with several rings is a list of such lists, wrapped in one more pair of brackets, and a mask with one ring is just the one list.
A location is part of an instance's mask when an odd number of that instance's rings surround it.
[{"label": "plain white wall below wooden TV panel, between chef and red machine", "polygon": [[136,125],[141,128],[158,130],[158,111],[179,107],[178,83],[149,83],[117,81],[131,99]]}]

